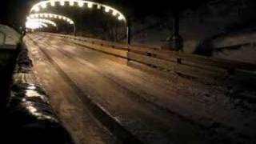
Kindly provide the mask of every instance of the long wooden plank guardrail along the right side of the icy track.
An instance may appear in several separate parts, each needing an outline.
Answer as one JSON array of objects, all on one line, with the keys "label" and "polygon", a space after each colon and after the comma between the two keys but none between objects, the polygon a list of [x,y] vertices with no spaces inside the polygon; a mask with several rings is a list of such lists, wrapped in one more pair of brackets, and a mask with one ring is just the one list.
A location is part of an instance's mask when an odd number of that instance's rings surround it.
[{"label": "long wooden plank guardrail along the right side of the icy track", "polygon": [[[42,33],[58,38],[67,38],[71,42],[111,54],[128,60],[130,66],[198,78],[206,82],[234,81],[256,83],[256,64],[237,62],[222,58],[210,58],[195,54],[162,50],[158,47],[127,46],[124,43],[107,42],[94,38],[83,38],[64,34]],[[217,81],[218,80],[218,81]],[[249,83],[248,83],[249,82]]]}]

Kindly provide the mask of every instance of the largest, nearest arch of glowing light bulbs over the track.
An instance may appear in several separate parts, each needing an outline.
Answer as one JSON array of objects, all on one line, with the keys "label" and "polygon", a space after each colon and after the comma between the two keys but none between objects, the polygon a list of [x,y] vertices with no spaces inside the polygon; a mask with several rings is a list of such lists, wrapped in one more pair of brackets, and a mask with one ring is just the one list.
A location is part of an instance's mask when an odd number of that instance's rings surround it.
[{"label": "largest, nearest arch of glowing light bulbs over the track", "polygon": [[94,6],[97,7],[98,10],[105,10],[106,13],[112,13],[113,16],[116,16],[118,20],[126,22],[126,17],[124,14],[122,14],[119,10],[114,9],[111,6],[107,6],[98,2],[90,2],[85,0],[48,0],[48,1],[42,1],[35,4],[31,10],[30,13],[38,13],[40,10],[46,9],[47,6],[56,6],[57,4],[59,6],[65,6],[66,3],[69,3],[69,6],[79,6],[83,7],[87,5],[88,8],[93,8]]}]

